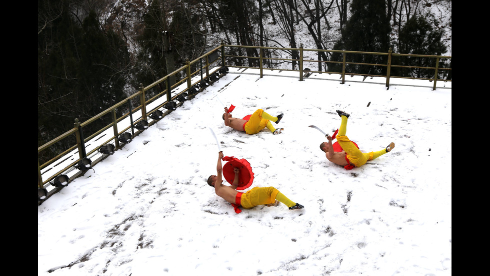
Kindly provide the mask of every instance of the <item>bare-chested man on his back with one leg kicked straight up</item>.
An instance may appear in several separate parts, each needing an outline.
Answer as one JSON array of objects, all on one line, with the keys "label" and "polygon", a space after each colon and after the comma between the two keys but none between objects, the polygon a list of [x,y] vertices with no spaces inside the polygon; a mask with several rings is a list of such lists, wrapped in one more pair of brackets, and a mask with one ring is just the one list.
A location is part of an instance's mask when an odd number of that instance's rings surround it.
[{"label": "bare-chested man on his back with one leg kicked straight up", "polygon": [[351,169],[353,166],[359,167],[364,165],[368,160],[376,159],[379,156],[390,152],[394,148],[394,143],[391,142],[386,148],[369,153],[361,152],[349,138],[345,135],[347,132],[347,119],[350,116],[348,113],[337,110],[338,116],[342,119],[340,128],[336,135],[337,142],[342,148],[342,151],[333,151],[332,138],[330,135],[326,135],[328,142],[323,142],[320,144],[320,149],[325,152],[326,159],[337,165],[343,166],[346,169]]}]

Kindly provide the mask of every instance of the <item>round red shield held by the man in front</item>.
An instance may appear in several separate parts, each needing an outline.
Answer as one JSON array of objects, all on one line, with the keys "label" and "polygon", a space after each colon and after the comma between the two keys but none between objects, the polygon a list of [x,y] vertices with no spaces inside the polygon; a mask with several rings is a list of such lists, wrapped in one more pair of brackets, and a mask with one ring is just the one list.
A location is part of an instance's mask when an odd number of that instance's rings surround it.
[{"label": "round red shield held by the man in front", "polygon": [[250,187],[253,182],[253,172],[248,161],[245,159],[237,159],[233,156],[224,156],[223,161],[227,161],[226,164],[223,165],[223,177],[229,184],[232,185],[235,178],[233,169],[238,168],[240,172],[238,173],[238,187],[236,189],[244,190]]}]

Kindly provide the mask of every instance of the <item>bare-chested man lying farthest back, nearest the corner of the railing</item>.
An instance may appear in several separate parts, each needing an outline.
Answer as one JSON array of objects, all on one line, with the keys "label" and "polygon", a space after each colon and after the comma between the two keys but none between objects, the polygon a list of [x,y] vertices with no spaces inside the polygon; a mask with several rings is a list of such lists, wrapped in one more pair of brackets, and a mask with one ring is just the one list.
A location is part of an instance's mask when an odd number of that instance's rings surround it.
[{"label": "bare-chested man lying farthest back, nearest the corner of the railing", "polygon": [[283,114],[279,114],[276,117],[267,114],[262,109],[257,109],[250,118],[247,120],[234,118],[231,113],[228,112],[228,108],[224,108],[223,120],[224,125],[234,130],[243,131],[246,134],[255,134],[261,131],[263,128],[267,128],[273,134],[281,133],[284,128],[274,128],[270,121],[278,124]]}]

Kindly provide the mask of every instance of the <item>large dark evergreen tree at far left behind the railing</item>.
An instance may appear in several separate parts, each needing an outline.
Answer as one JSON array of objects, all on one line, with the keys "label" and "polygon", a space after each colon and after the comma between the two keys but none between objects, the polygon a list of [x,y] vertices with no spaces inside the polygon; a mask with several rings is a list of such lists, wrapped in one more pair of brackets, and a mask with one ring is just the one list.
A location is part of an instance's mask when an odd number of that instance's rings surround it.
[{"label": "large dark evergreen tree at far left behind the railing", "polygon": [[[75,118],[86,121],[121,101],[128,64],[125,43],[102,30],[93,11],[75,18],[69,1],[42,4],[37,35],[38,146],[71,129]],[[106,123],[98,120],[85,131],[88,134]],[[63,143],[57,150],[72,145]]]}]

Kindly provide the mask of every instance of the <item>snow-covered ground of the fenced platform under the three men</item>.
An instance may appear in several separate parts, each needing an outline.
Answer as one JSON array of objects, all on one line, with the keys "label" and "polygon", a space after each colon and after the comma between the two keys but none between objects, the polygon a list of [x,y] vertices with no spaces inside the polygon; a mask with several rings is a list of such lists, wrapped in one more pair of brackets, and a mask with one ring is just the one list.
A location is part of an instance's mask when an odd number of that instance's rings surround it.
[{"label": "snow-covered ground of the fenced platform under the three men", "polygon": [[[451,275],[451,83],[346,81],[230,72],[38,206],[38,275]],[[284,131],[229,129],[222,103],[284,113]],[[308,126],[333,133],[337,109],[362,151],[395,148],[352,170],[328,162]],[[236,214],[206,184],[208,128],[250,163],[250,188],[305,208]]]}]

